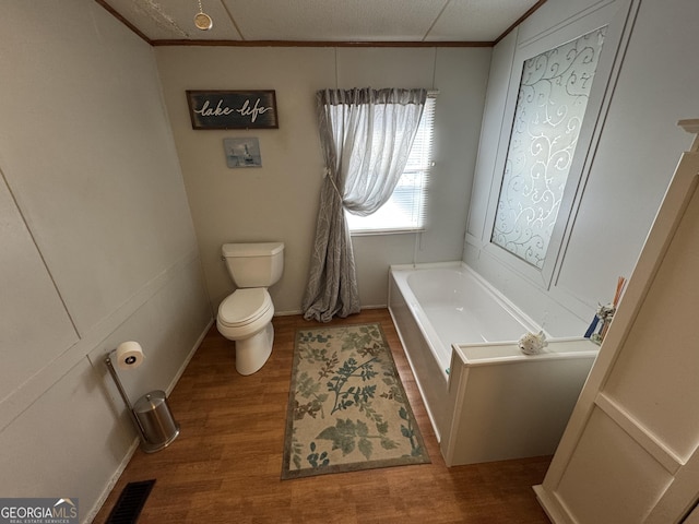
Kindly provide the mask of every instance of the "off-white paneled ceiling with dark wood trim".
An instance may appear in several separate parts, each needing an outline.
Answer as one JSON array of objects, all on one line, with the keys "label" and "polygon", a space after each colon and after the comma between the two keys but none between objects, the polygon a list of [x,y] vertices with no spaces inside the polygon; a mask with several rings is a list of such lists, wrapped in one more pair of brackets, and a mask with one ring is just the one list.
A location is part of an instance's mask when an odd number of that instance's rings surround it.
[{"label": "off-white paneled ceiling with dark wood trim", "polygon": [[[546,0],[96,0],[153,45],[491,44]],[[201,10],[213,27],[201,31]]]}]

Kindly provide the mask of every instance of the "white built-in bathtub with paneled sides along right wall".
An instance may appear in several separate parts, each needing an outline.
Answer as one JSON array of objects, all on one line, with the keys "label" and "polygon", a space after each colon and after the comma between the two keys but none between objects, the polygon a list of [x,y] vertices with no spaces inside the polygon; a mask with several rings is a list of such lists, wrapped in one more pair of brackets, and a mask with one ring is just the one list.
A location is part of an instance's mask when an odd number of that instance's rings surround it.
[{"label": "white built-in bathtub with paneled sides along right wall", "polygon": [[447,465],[552,454],[597,346],[517,341],[536,323],[462,262],[392,266],[389,310]]}]

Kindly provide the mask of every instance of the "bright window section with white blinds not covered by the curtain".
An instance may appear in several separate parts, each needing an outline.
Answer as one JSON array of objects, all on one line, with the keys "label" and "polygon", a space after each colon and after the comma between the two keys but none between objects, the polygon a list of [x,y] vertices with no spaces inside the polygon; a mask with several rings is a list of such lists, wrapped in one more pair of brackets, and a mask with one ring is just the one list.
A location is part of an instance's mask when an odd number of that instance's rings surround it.
[{"label": "bright window section with white blinds not covered by the curtain", "polygon": [[389,201],[369,216],[345,212],[352,234],[410,233],[425,228],[436,99],[435,94],[427,95],[407,164]]}]

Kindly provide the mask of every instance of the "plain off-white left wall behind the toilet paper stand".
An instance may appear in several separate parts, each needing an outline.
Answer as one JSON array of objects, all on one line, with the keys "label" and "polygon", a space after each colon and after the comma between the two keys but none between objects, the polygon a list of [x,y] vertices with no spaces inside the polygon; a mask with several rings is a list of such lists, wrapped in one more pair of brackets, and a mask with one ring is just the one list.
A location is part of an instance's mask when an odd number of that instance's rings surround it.
[{"label": "plain off-white left wall behind the toilet paper stand", "polygon": [[0,492],[87,520],[135,441],[105,355],[169,390],[211,308],[150,46],[90,0],[2,11]]}]

